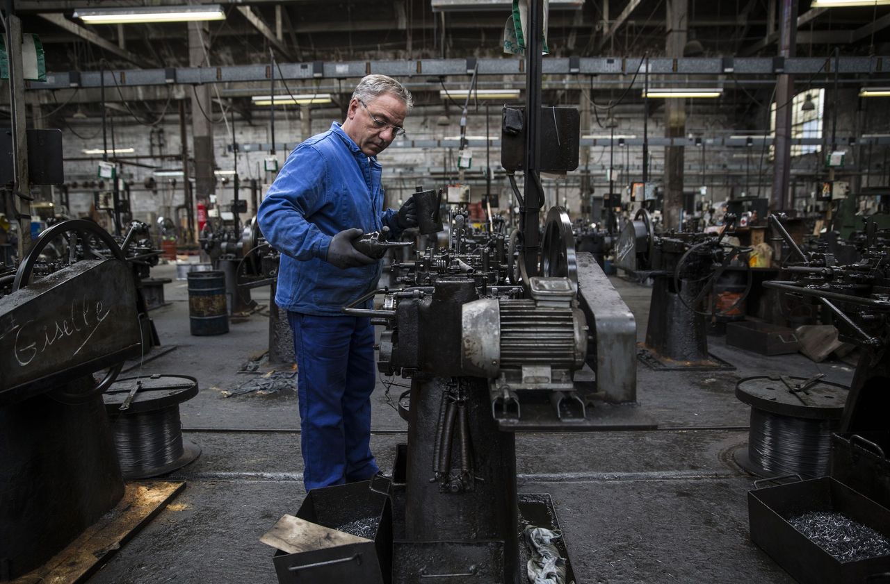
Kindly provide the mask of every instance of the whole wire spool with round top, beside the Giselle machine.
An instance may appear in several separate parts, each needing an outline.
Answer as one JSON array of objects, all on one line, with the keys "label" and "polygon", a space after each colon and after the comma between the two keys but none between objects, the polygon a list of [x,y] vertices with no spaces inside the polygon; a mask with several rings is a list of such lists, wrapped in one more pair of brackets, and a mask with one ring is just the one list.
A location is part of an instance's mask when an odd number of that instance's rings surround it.
[{"label": "whole wire spool with round top, beside the Giselle machine", "polygon": [[182,438],[179,404],[198,395],[198,380],[151,375],[117,380],[103,395],[125,478],[166,475],[201,453]]}]

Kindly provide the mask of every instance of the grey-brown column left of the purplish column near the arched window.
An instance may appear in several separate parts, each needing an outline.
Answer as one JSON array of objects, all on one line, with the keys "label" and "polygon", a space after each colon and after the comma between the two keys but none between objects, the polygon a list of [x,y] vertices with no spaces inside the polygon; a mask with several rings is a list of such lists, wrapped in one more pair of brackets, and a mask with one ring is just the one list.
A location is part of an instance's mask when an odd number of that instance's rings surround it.
[{"label": "grey-brown column left of the purplish column near the arched window", "polygon": [[[667,57],[683,57],[689,28],[688,0],[667,0]],[[665,137],[682,138],[686,133],[686,101],[665,100]],[[683,209],[683,146],[665,147],[665,228],[680,228]]]}]

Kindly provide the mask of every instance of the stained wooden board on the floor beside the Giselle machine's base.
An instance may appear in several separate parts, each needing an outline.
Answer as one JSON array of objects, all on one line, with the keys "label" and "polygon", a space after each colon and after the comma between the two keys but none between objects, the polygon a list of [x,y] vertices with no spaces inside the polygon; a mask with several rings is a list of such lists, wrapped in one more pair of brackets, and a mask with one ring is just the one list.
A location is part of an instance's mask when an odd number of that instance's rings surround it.
[{"label": "stained wooden board on the floor beside the Giselle machine's base", "polygon": [[76,584],[85,582],[142,527],[185,488],[185,483],[134,481],[124,497],[99,521],[50,558],[11,584]]}]

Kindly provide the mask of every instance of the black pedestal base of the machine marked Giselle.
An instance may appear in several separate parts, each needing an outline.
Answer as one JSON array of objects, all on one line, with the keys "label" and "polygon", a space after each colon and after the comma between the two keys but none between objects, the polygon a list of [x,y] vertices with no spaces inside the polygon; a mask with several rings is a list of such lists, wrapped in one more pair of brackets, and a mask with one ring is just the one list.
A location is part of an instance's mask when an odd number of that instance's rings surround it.
[{"label": "black pedestal base of the machine marked Giselle", "polygon": [[[94,381],[68,378],[66,386],[88,392]],[[0,428],[0,561],[14,579],[113,508],[124,481],[100,396],[77,405],[48,395],[5,404]]]}]

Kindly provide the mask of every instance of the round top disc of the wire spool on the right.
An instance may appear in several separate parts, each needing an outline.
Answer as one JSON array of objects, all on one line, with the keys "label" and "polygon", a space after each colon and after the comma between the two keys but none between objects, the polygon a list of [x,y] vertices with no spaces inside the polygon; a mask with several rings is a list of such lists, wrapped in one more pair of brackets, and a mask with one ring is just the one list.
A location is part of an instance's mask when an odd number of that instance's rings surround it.
[{"label": "round top disc of the wire spool on the right", "polygon": [[[791,384],[803,377],[785,376]],[[849,390],[837,383],[817,381],[805,391],[792,391],[779,376],[748,377],[735,386],[735,396],[764,412],[810,420],[840,420]]]}]

